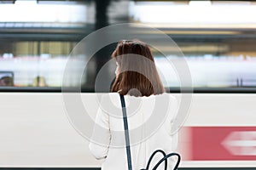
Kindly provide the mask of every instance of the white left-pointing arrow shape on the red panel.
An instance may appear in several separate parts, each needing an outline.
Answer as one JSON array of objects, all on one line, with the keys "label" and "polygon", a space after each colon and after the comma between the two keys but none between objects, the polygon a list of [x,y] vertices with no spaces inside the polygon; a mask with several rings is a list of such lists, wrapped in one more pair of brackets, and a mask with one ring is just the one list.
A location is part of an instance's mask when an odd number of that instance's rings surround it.
[{"label": "white left-pointing arrow shape on the red panel", "polygon": [[256,131],[235,131],[221,143],[234,156],[256,156]]}]

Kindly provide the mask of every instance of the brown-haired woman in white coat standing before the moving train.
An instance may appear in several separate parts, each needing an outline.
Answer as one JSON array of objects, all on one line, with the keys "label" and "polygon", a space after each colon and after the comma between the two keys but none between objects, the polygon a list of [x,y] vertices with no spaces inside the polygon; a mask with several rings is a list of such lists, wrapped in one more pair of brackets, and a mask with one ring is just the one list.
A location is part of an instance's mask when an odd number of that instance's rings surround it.
[{"label": "brown-haired woman in white coat standing before the moving train", "polygon": [[[109,103],[106,111],[100,107],[96,125],[89,144],[96,159],[104,159],[102,170],[128,169],[125,150],[125,130],[119,94],[125,96],[127,121],[131,142],[132,169],[146,167],[154,150],[171,153],[177,149],[177,133],[172,133],[172,122],[177,116],[177,100],[167,94],[154,64],[153,54],[144,42],[123,40],[112,54],[116,60],[116,78],[108,97],[101,105]],[[136,108],[133,104],[137,104]],[[168,109],[164,109],[168,106]],[[95,142],[98,141],[98,142]],[[101,143],[101,144],[100,144]],[[154,158],[154,165],[159,158]],[[168,163],[173,169],[174,162]],[[160,169],[162,169],[160,167]]]}]

